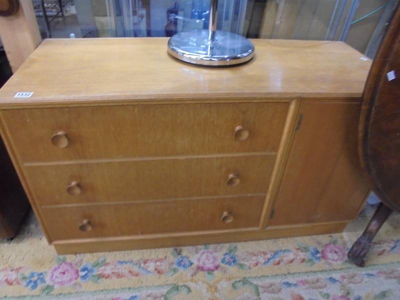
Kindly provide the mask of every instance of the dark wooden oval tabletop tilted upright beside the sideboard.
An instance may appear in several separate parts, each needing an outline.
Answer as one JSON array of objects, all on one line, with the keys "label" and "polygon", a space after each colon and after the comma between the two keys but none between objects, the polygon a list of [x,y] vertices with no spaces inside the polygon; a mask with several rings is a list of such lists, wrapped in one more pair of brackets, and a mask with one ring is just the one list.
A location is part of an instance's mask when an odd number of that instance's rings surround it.
[{"label": "dark wooden oval tabletop tilted upright beside the sideboard", "polygon": [[372,63],[359,124],[361,165],[372,190],[400,211],[400,6]]}]

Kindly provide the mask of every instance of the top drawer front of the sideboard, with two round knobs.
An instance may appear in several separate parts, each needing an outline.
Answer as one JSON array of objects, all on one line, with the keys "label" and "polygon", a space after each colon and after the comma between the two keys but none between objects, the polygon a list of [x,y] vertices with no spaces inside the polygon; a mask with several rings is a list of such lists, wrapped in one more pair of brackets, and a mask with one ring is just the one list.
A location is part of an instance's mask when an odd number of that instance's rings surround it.
[{"label": "top drawer front of the sideboard, with two round knobs", "polygon": [[287,107],[147,104],[10,109],[2,115],[20,158],[32,162],[276,151]]}]

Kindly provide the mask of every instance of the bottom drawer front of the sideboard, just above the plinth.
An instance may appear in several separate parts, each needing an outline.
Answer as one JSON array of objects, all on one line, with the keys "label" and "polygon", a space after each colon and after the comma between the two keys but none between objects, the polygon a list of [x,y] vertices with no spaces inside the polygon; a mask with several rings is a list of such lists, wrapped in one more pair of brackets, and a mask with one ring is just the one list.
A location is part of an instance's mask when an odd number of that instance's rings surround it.
[{"label": "bottom drawer front of the sideboard, just above the plinth", "polygon": [[256,227],[263,196],[41,208],[51,240]]}]

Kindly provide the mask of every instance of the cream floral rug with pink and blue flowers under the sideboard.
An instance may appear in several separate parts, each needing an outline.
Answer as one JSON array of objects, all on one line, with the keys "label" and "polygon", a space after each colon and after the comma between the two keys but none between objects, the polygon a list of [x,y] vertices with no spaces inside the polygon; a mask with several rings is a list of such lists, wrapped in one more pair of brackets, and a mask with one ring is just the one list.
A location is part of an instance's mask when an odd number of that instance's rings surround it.
[{"label": "cream floral rug with pink and blue flowers under the sideboard", "polygon": [[346,252],[366,206],[343,233],[262,241],[56,255],[33,215],[0,239],[0,299],[400,299],[400,214],[358,268]]}]

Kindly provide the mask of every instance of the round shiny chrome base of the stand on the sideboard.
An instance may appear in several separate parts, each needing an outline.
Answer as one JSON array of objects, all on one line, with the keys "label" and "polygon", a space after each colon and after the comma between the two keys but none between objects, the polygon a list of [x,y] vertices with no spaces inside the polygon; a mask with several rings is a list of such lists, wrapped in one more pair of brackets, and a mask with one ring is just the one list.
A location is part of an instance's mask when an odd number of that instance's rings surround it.
[{"label": "round shiny chrome base of the stand on the sideboard", "polygon": [[241,35],[203,29],[173,35],[168,40],[168,53],[194,64],[227,66],[250,60],[254,46]]}]

